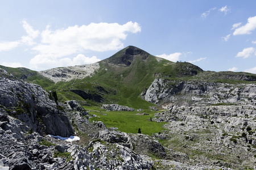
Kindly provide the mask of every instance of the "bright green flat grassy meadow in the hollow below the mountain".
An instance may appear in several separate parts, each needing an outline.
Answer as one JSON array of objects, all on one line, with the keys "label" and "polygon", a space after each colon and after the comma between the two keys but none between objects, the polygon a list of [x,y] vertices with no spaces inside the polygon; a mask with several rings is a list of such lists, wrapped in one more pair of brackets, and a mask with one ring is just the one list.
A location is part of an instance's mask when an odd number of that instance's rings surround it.
[{"label": "bright green flat grassy meadow in the hollow below the mountain", "polygon": [[[142,111],[142,112],[125,112],[125,111],[110,111],[106,112],[105,109],[99,109],[97,107],[84,107],[90,115],[96,114],[97,117],[90,118],[89,121],[102,121],[104,124],[110,127],[116,127],[119,131],[126,133],[138,133],[138,129],[141,128],[142,134],[152,135],[159,133],[162,130],[162,126],[166,122],[154,122],[150,121],[150,117],[154,117],[154,114],[159,111]],[[138,115],[137,113],[147,113],[149,115]],[[107,115],[104,115],[107,114]]]}]

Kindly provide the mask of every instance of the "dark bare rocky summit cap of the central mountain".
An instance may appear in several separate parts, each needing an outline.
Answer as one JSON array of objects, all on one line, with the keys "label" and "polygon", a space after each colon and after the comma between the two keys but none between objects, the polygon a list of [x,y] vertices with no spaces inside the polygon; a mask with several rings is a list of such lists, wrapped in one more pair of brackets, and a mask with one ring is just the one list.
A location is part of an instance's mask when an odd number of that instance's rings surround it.
[{"label": "dark bare rocky summit cap of the central mountain", "polygon": [[130,45],[115,53],[112,57],[105,59],[105,61],[115,65],[130,66],[135,56],[146,59],[148,55],[150,54],[144,50]]}]

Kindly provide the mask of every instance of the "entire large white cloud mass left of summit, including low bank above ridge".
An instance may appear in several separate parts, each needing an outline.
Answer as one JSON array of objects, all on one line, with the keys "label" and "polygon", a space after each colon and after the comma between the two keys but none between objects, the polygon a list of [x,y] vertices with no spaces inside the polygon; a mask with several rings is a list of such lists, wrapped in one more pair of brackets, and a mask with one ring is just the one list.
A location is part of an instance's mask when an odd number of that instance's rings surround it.
[{"label": "entire large white cloud mass left of summit, including low bank above ridge", "polygon": [[83,53],[86,50],[105,52],[123,48],[123,42],[127,33],[141,32],[141,26],[136,22],[118,23],[90,23],[78,25],[66,29],[50,29],[47,25],[42,31],[42,41],[32,50],[38,52],[31,59],[31,68],[50,68],[67,65],[80,65],[100,61],[97,57],[85,57],[82,54],[70,59],[67,56]]}]

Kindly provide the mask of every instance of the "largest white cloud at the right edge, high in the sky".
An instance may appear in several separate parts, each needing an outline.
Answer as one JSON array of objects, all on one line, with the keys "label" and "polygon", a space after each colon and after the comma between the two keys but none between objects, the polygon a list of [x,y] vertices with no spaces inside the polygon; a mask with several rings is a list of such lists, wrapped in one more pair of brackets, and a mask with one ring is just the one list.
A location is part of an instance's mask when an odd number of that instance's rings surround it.
[{"label": "largest white cloud at the right edge, high in the sky", "polygon": [[256,28],[256,16],[248,18],[248,22],[240,28],[237,28],[233,35],[243,35],[243,34],[251,34]]}]

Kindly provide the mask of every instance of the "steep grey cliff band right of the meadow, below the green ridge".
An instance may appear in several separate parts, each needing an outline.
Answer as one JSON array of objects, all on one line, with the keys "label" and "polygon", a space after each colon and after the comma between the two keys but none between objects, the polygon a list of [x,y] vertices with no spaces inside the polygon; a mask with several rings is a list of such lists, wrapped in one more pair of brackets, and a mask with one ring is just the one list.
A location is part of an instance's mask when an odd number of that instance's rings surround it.
[{"label": "steep grey cliff band right of the meadow, below the green ridge", "polygon": [[255,84],[228,84],[203,80],[155,79],[143,94],[145,100],[162,105],[255,104]]}]

